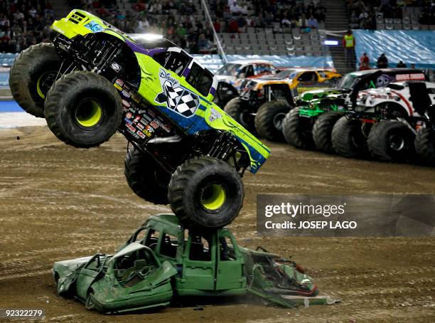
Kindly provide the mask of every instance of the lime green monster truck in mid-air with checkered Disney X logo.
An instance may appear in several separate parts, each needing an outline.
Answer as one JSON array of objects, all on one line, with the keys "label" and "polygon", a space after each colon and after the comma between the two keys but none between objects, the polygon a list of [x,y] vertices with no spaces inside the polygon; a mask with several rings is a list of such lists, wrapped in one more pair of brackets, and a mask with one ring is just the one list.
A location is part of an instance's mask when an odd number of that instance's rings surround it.
[{"label": "lime green monster truck in mid-air with checkered Disney X logo", "polygon": [[213,74],[171,41],[128,35],[86,11],[52,28],[53,44],[31,46],[11,68],[18,104],[74,147],[118,130],[132,144],[125,175],[134,193],[170,203],[190,226],[230,223],[242,207],[241,176],[270,151],[213,103]]}]

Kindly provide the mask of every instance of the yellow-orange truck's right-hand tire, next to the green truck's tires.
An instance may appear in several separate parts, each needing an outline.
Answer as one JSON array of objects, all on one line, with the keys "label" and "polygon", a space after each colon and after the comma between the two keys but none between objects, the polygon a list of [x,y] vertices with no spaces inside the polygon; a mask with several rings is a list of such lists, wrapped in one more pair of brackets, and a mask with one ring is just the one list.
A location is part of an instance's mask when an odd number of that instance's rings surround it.
[{"label": "yellow-orange truck's right-hand tire, next to the green truck's tires", "polygon": [[254,120],[259,136],[276,142],[284,141],[282,134],[284,118],[290,109],[291,106],[284,101],[263,103],[257,110]]}]

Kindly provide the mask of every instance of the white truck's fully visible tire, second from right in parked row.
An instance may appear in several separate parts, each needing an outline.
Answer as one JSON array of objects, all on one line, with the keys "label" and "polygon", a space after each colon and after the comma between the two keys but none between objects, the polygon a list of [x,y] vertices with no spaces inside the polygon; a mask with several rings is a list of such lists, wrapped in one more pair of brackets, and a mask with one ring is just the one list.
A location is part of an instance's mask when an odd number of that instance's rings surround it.
[{"label": "white truck's fully visible tire, second from right in parked row", "polygon": [[414,156],[414,133],[398,120],[382,120],[373,125],[367,146],[373,158],[402,162]]}]

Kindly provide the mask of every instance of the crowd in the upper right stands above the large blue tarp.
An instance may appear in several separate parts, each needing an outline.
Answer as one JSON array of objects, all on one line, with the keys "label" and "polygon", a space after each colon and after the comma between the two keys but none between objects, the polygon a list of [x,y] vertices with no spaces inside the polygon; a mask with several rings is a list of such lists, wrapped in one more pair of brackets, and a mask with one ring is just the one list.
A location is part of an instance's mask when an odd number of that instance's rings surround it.
[{"label": "crowd in the upper right stands above the large blue tarp", "polygon": [[404,8],[417,6],[422,11],[419,23],[435,24],[435,0],[345,0],[348,6],[350,23],[353,27],[376,29],[376,18],[400,18]]}]

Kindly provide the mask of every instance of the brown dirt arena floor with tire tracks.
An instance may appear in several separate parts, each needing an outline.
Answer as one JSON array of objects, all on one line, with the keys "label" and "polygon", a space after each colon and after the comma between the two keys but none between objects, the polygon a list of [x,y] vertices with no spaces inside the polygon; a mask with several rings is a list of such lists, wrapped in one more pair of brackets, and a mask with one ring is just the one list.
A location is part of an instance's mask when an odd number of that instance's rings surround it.
[{"label": "brown dirt arena floor with tire tracks", "polygon": [[0,130],[0,307],[44,308],[53,322],[435,322],[434,238],[259,238],[255,231],[259,193],[435,194],[435,168],[268,144],[272,157],[244,178],[245,205],[232,231],[240,245],[291,256],[341,303],[283,309],[245,297],[107,316],[58,297],[54,261],[113,253],[149,215],[169,209],[127,186],[121,135],[75,149],[47,127],[26,127]]}]

